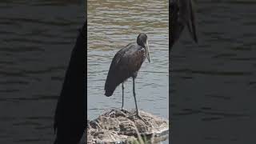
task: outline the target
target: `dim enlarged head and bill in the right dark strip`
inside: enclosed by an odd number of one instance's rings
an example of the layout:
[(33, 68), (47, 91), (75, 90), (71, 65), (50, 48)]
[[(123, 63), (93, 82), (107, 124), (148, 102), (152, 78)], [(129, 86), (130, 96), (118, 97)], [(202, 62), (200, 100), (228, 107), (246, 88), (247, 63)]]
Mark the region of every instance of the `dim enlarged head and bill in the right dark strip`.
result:
[(198, 43), (191, 0), (173, 0), (170, 2), (170, 50), (180, 38), (185, 26), (187, 26), (194, 42)]

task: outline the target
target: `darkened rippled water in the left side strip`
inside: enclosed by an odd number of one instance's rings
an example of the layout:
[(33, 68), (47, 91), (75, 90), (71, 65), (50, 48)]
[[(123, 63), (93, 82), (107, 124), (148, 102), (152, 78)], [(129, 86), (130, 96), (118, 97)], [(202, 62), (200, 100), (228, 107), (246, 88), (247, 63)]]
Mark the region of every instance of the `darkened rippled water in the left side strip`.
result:
[(53, 117), (84, 2), (0, 2), (0, 143), (54, 142)]

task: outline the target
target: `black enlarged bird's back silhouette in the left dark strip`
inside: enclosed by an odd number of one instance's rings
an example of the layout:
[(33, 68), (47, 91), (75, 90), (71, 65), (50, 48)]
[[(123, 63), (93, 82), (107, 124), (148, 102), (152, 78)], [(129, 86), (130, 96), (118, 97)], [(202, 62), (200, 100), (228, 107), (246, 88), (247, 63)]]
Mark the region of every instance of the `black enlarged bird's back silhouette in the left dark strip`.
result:
[(86, 23), (80, 30), (70, 63), (66, 70), (62, 92), (54, 114), (54, 144), (78, 144), (86, 130), (86, 98), (84, 56), (86, 54)]

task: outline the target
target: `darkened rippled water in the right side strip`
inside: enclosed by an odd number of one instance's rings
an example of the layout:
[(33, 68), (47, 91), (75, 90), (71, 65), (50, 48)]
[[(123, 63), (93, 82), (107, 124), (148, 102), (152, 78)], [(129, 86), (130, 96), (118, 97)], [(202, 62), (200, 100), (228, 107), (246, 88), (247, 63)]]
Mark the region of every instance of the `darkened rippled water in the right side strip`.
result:
[(255, 142), (255, 6), (197, 1), (199, 44), (183, 33), (170, 57), (171, 142)]

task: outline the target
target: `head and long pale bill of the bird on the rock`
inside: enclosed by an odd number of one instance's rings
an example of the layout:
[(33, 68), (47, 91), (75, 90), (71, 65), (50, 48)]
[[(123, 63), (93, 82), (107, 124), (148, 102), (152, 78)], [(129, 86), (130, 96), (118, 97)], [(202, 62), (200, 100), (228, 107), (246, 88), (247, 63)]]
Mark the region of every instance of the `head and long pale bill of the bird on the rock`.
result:
[(139, 46), (142, 46), (146, 50), (146, 58), (150, 62), (150, 47), (149, 47), (149, 42), (147, 41), (147, 36), (144, 33), (138, 34), (137, 38), (137, 44)]

